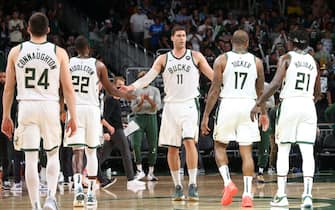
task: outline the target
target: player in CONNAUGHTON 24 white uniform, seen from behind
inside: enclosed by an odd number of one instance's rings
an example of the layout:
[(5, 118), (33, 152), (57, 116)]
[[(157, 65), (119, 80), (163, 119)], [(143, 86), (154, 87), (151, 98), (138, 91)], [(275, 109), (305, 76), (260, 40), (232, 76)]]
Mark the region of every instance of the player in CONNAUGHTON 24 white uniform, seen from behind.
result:
[(10, 108), (15, 84), (17, 85), (19, 113), (14, 144), (20, 145), (21, 150), (25, 151), (25, 180), (33, 209), (41, 209), (37, 171), (41, 138), (48, 156), (48, 198), (44, 203), (44, 209), (57, 209), (55, 194), (60, 168), (60, 88), (72, 116), (67, 125), (67, 133), (72, 136), (77, 129), (75, 95), (68, 55), (64, 49), (47, 42), (48, 25), (48, 18), (43, 13), (34, 13), (30, 17), (30, 41), (13, 47), (9, 53), (3, 95), (4, 113), (1, 129), (10, 138), (13, 132)]

